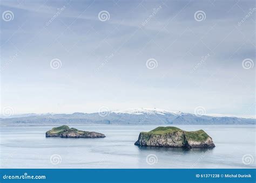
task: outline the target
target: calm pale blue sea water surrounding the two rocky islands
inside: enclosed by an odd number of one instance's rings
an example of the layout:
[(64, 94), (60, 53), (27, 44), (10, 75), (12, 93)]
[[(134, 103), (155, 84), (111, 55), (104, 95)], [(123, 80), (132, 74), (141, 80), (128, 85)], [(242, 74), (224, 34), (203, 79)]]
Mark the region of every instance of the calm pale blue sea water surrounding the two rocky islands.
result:
[(45, 138), (52, 127), (1, 127), (1, 168), (256, 168), (254, 125), (177, 126), (205, 130), (216, 145), (211, 150), (134, 145), (139, 132), (157, 125), (71, 126), (106, 138)]

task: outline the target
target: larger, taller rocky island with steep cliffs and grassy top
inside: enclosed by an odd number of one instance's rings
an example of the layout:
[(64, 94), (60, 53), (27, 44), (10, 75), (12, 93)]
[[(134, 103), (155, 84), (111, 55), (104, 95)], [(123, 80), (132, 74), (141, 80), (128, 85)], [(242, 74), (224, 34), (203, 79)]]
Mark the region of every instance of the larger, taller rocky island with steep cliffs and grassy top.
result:
[(173, 126), (158, 127), (140, 132), (134, 145), (152, 147), (215, 147), (212, 138), (204, 130), (184, 131)]

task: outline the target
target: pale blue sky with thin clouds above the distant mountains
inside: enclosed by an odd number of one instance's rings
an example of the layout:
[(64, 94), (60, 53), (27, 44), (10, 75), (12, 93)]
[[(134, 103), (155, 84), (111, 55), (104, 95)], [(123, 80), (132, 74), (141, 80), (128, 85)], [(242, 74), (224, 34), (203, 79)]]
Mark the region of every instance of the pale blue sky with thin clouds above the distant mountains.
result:
[(1, 1), (2, 114), (201, 107), (255, 115), (255, 7)]

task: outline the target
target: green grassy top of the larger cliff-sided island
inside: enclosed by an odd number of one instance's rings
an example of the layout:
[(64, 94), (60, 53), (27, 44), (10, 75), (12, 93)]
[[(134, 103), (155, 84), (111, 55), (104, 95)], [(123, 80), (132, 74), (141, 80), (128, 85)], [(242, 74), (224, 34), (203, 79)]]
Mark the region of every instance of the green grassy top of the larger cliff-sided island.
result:
[(197, 130), (197, 131), (184, 131), (174, 126), (159, 126), (158, 128), (151, 130), (149, 132), (142, 132), (142, 135), (165, 135), (167, 133), (173, 133), (173, 132), (183, 132), (186, 136), (186, 139), (196, 140), (196, 141), (202, 141), (206, 140), (207, 133), (204, 130)]

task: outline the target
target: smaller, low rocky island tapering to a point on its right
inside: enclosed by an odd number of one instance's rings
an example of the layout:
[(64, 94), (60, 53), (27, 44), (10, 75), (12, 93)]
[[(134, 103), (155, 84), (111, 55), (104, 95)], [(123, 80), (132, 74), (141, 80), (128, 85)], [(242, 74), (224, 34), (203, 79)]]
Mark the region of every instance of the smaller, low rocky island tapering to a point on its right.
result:
[(102, 133), (92, 131), (81, 131), (75, 128), (69, 128), (67, 125), (52, 128), (46, 131), (46, 137), (62, 137), (62, 138), (104, 138)]

